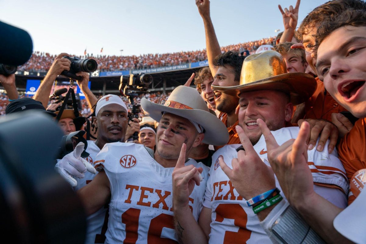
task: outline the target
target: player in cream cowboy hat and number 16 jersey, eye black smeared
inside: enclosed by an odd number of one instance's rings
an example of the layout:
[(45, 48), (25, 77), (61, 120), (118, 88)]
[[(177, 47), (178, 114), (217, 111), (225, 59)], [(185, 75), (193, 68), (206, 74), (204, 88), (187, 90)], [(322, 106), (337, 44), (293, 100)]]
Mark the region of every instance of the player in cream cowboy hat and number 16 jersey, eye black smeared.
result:
[[(78, 191), (88, 214), (100, 209), (110, 199), (105, 243), (177, 241), (172, 206), (172, 172), (177, 161), (180, 158), (180, 175), (199, 185), (188, 194), (187, 203), (197, 220), (208, 168), (187, 159), (186, 155), (202, 141), (224, 145), (228, 140), (225, 126), (209, 112), (194, 88), (177, 87), (164, 105), (143, 98), (141, 107), (159, 121), (155, 153), (141, 144), (105, 144), (93, 162), (100, 172)], [(102, 110), (99, 113), (104, 116)], [(117, 132), (115, 126), (105, 126), (105, 129)], [(201, 183), (199, 175), (203, 178)]]

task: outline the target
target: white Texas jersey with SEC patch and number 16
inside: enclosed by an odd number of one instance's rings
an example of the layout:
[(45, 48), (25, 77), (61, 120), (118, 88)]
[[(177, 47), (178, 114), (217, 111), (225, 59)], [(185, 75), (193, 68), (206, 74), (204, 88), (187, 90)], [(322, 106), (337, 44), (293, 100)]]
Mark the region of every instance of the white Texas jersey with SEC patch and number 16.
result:
[[(203, 180), (189, 198), (193, 216), (202, 209), (209, 168), (189, 159), (186, 165), (202, 167)], [(155, 161), (141, 144), (105, 144), (94, 167), (104, 169), (111, 186), (109, 222), (105, 243), (176, 243), (172, 208), (172, 172)]]

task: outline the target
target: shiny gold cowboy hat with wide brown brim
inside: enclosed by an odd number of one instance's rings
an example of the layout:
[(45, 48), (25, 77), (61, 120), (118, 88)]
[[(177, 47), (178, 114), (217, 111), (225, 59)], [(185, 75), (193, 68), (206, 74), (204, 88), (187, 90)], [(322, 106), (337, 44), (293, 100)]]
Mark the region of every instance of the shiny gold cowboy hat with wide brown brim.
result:
[(244, 59), (239, 85), (212, 85), (212, 88), (232, 96), (249, 91), (276, 90), (289, 94), (290, 102), (297, 105), (313, 95), (317, 82), (313, 76), (306, 73), (287, 73), (286, 63), (281, 54), (268, 50)]

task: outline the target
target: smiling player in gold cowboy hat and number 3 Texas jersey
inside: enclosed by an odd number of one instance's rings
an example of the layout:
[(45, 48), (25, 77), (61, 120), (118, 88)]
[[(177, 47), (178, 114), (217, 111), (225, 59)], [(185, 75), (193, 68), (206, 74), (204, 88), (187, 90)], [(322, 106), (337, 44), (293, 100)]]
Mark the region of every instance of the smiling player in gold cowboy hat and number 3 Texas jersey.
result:
[[(280, 188), (273, 174), (272, 177), (262, 174), (263, 168), (269, 172), (269, 165), (263, 163), (267, 160), (267, 149), (257, 119), (264, 121), (270, 130), (276, 130), (275, 137), (280, 144), (296, 138), (299, 127), (285, 127), (291, 119), (292, 106), (308, 99), (315, 87), (312, 76), (300, 72), (287, 73), (285, 61), (273, 50), (250, 55), (244, 60), (240, 85), (214, 87), (224, 94), (240, 94), (239, 126), (236, 129), (243, 135), (241, 142), (245, 151), (240, 144), (226, 145), (213, 155), (198, 224), (185, 205), (187, 196), (183, 201), (184, 194), (178, 194), (187, 191), (187, 186), (178, 181), (175, 183), (179, 190), (173, 196), (174, 214), (180, 224), (177, 232), (182, 233), (183, 243), (235, 243), (238, 240), (243, 243), (272, 243), (259, 224), (265, 212), (257, 217), (247, 202), (262, 192)], [(309, 155), (313, 164), (308, 168), (314, 169), (313, 187), (340, 207), (345, 207), (343, 191), (348, 190), (348, 184), (336, 172), (343, 169), (336, 153), (320, 153), (313, 149)], [(228, 164), (226, 168), (222, 166), (225, 170), (220, 167), (223, 161)], [(241, 170), (240, 167), (245, 168)], [(317, 167), (324, 167), (332, 174), (322, 174), (316, 171)], [(228, 173), (231, 168), (235, 172), (234, 178)], [(271, 188), (267, 189), (269, 185)], [(332, 188), (335, 185), (336, 190)], [(245, 191), (241, 191), (240, 186), (245, 187)]]

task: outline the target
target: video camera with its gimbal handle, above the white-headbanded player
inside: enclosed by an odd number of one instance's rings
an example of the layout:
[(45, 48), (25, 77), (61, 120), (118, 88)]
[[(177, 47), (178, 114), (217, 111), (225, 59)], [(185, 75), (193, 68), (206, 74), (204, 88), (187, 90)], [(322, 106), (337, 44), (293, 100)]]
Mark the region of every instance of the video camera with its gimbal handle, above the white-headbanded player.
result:
[[(139, 73), (137, 75), (131, 74), (130, 76), (121, 76), (119, 91), (122, 96), (128, 98), (130, 104), (132, 105), (132, 111), (128, 114), (128, 118), (130, 120), (132, 120), (132, 118), (138, 118), (139, 113), (141, 112), (141, 105), (136, 105), (134, 101), (134, 98), (137, 98), (138, 94), (132, 91), (146, 92), (147, 89), (149, 89), (149, 85), (151, 83), (153, 83), (153, 77), (144, 73)], [(138, 140), (137, 132), (133, 134), (132, 140)]]

